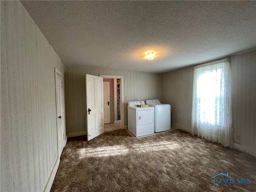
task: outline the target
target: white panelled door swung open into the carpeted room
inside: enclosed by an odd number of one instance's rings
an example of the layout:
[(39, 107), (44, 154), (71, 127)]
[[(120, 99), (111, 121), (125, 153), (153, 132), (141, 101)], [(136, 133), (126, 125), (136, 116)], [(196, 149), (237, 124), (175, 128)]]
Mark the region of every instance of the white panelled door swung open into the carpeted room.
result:
[(86, 74), (87, 140), (104, 133), (103, 78)]

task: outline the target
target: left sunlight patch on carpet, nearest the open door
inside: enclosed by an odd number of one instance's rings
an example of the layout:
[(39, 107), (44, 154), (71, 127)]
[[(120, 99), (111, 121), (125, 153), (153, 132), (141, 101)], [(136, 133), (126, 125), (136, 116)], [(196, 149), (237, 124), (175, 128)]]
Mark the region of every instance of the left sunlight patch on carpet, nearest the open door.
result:
[(124, 145), (84, 148), (80, 150), (80, 158), (87, 157), (106, 157), (115, 155), (124, 155), (128, 153), (128, 149)]

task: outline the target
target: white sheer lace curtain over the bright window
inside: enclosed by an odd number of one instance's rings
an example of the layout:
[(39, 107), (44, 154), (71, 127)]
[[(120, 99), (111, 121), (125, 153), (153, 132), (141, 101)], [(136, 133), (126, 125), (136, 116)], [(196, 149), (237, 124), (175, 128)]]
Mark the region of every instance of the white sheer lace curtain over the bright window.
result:
[(192, 135), (233, 145), (229, 60), (194, 67)]

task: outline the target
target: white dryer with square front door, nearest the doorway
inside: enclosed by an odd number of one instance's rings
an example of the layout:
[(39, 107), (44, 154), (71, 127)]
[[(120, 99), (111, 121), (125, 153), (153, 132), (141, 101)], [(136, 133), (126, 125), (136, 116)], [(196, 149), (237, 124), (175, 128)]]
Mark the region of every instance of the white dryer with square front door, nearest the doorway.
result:
[(138, 105), (145, 105), (145, 102), (128, 102), (128, 131), (136, 137), (154, 134), (154, 107)]

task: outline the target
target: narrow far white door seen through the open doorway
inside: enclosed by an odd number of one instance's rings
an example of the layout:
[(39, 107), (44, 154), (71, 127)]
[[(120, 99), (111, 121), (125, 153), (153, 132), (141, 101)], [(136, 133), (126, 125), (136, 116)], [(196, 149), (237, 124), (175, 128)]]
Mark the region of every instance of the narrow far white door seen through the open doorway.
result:
[(104, 124), (110, 123), (110, 83), (103, 82)]

